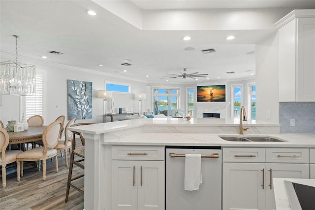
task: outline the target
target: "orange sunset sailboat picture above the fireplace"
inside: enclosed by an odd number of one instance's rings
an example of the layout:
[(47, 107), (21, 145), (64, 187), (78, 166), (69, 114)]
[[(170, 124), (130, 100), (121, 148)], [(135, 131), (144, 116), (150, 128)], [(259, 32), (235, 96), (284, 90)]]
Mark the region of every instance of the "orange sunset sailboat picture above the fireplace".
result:
[(197, 102), (225, 102), (225, 85), (197, 86)]

